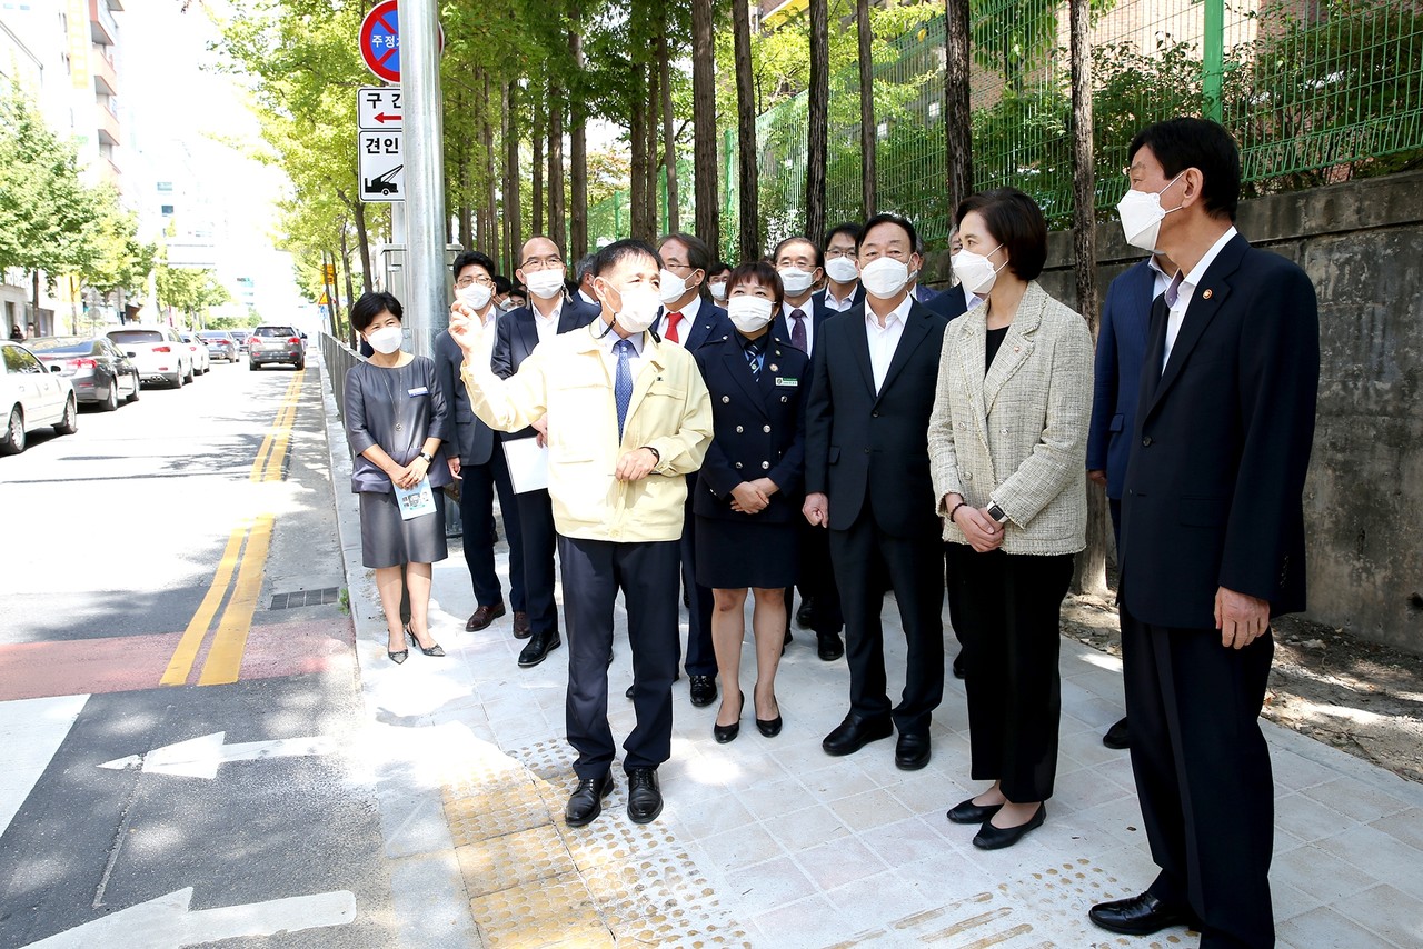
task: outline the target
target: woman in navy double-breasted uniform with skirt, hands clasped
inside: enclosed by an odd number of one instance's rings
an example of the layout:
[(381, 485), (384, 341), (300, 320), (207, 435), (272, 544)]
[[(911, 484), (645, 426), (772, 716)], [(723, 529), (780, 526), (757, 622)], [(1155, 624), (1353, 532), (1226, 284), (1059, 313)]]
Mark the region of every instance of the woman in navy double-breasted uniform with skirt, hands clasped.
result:
[(721, 744), (740, 733), (746, 706), (740, 667), (747, 589), (756, 592), (756, 727), (767, 737), (781, 731), (776, 667), (785, 639), (785, 588), (795, 582), (810, 391), (810, 357), (771, 334), (781, 296), (781, 279), (768, 263), (736, 267), (726, 300), (736, 333), (696, 351), (712, 393), (713, 437), (692, 511), (697, 583), (710, 586), (714, 598), (721, 707), (712, 734)]

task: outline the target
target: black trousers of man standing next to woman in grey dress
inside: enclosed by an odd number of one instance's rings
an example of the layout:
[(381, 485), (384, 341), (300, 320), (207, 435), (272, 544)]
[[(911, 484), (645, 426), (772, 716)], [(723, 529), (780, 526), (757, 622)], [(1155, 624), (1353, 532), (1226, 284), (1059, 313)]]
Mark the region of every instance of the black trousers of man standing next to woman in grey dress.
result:
[(464, 562), (470, 568), (474, 599), (480, 606), (494, 606), (504, 599), (499, 575), (494, 569), (494, 492), (499, 492), (504, 536), (509, 542), (509, 606), (524, 610), (524, 542), (519, 508), (509, 465), (498, 441), (482, 465), (460, 468), (460, 521), (464, 525)]

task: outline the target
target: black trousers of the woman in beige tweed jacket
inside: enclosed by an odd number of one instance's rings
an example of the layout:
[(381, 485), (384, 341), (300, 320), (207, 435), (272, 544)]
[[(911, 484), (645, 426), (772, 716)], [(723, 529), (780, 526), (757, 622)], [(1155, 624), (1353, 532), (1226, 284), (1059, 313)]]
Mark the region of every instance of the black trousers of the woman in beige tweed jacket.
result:
[(963, 623), (963, 677), (975, 781), (1009, 801), (1046, 801), (1057, 777), (1059, 620), (1073, 555), (1033, 556), (949, 544), (949, 602)]

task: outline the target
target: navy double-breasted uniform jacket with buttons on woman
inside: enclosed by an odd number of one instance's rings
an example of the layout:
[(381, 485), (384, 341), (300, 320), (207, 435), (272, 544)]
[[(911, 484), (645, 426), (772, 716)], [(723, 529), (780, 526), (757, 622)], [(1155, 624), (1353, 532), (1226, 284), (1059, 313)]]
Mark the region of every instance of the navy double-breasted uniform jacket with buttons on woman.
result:
[[(801, 516), (810, 357), (773, 334), (756, 378), (741, 339), (733, 333), (703, 344), (696, 359), (712, 393), (713, 434), (697, 475), (693, 512), (771, 522)], [(733, 511), (731, 489), (757, 478), (770, 478), (780, 488), (770, 505), (758, 514)]]

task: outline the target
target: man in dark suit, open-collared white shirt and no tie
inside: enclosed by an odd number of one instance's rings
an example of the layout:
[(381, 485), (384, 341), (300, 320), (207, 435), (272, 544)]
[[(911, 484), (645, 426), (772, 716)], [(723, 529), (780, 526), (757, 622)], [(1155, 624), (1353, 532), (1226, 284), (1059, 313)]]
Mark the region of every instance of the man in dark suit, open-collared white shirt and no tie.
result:
[[(948, 320), (909, 296), (919, 267), (914, 225), (875, 215), (859, 239), (864, 307), (822, 327), (805, 425), (807, 521), (830, 528), (845, 610), (850, 714), (828, 754), (899, 741), (895, 764), (929, 763), (929, 719), (943, 697), (943, 542), (929, 478), (928, 428)], [(888, 578), (909, 650), (891, 709), (879, 613)]]

